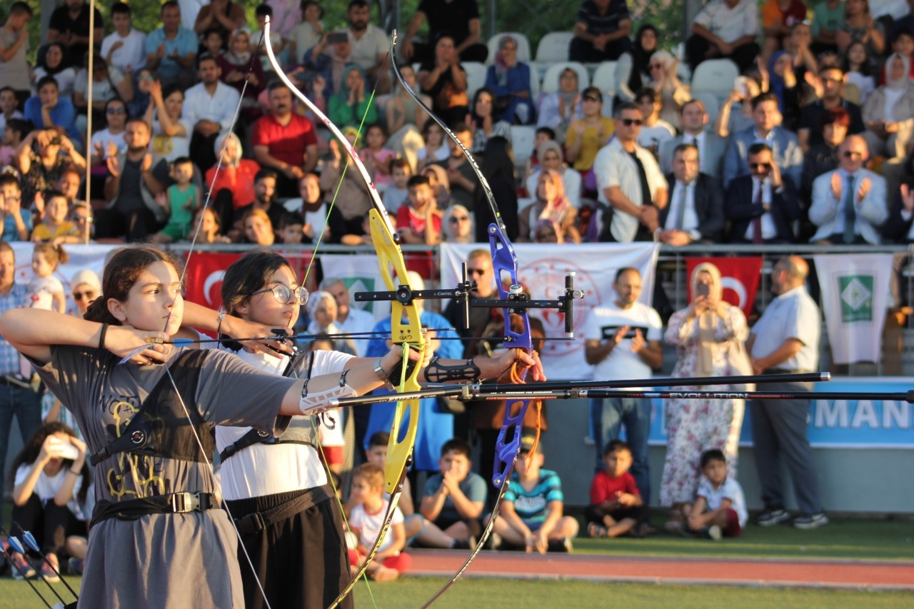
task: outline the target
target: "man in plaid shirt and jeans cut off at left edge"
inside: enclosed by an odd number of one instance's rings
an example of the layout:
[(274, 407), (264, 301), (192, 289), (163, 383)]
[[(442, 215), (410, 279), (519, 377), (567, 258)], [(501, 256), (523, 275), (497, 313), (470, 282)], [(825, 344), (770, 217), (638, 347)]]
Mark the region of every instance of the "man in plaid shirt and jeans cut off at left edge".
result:
[[(0, 240), (0, 313), (27, 306), (27, 294), (27, 286), (16, 283), (16, 254), (9, 243)], [(0, 492), (6, 487), (6, 450), (14, 414), (25, 443), (41, 424), (41, 404), (22, 375), (18, 351), (0, 337)]]

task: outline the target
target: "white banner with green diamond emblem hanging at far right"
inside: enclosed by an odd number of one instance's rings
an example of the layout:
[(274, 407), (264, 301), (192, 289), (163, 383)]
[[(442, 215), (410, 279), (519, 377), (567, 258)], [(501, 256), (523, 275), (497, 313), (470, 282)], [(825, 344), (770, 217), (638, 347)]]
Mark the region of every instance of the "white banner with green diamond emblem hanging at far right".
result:
[(892, 254), (813, 256), (835, 364), (879, 361)]

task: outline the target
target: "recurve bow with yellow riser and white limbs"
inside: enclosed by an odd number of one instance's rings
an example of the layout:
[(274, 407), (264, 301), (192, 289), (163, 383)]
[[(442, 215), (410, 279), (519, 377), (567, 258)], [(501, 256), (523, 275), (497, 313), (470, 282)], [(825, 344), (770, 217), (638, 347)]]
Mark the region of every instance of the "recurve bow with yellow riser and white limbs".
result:
[[(276, 74), (280, 77), (280, 80), (289, 87), (292, 94), (307, 106), (311, 112), (314, 112), (314, 116), (324, 123), (324, 126), (330, 130), (330, 133), (334, 134), (339, 144), (345, 149), (346, 154), (349, 155), (349, 163), (356, 167), (359, 175), (362, 176), (362, 179), (367, 185), (368, 196), (371, 198), (373, 205), (373, 208), (368, 212), (372, 242), (377, 251), (378, 264), (380, 265), (381, 276), (383, 277), (384, 282), (391, 291), (396, 290), (398, 285), (409, 285), (406, 262), (403, 259), (403, 252), (400, 251), (399, 248), (399, 239), (395, 236), (393, 225), (388, 216), (388, 210), (384, 207), (380, 195), (377, 193), (377, 188), (375, 187), (371, 175), (368, 173), (367, 167), (362, 163), (362, 159), (359, 158), (356, 149), (352, 144), (349, 144), (345, 135), (342, 134), (336, 125), (327, 118), (324, 112), (321, 112), (321, 109), (318, 108), (314, 102), (309, 100), (302, 91), (299, 91), (292, 83), (292, 80), (289, 80), (289, 77), (286, 76), (273, 54), (270, 31), (271, 20), (270, 17), (267, 17), (263, 28), (264, 44), (267, 49), (267, 57), (270, 59), (270, 63), (273, 66), (273, 69), (275, 69)], [(399, 284), (394, 280), (395, 275)], [(406, 323), (403, 322), (404, 316), (407, 318)], [(425, 338), (422, 336), (419, 310), (411, 300), (406, 304), (399, 302), (391, 304), (391, 334), (395, 344), (404, 346), (404, 360), (407, 358), (407, 349), (409, 346), (417, 347), (419, 349), (425, 348)], [(407, 369), (405, 361), (403, 369)], [(419, 374), (419, 366), (415, 366), (409, 376), (404, 374), (404, 378), (400, 379), (400, 384), (397, 388), (398, 392), (419, 390)], [(409, 416), (409, 424), (406, 432), (402, 433), (401, 427), (404, 417), (406, 416)], [(384, 540), (384, 537), (390, 528), (390, 522), (393, 519), (394, 511), (399, 502), (400, 490), (403, 487), (403, 480), (406, 477), (407, 466), (409, 465), (409, 455), (412, 452), (412, 446), (415, 442), (418, 429), (419, 400), (397, 402), (394, 423), (390, 431), (390, 443), (388, 444), (388, 461), (385, 467), (385, 484), (390, 493), (388, 513), (385, 516), (384, 525), (381, 527), (377, 540), (375, 540), (375, 545), (368, 552), (362, 566), (359, 568), (358, 572), (356, 572), (355, 577), (353, 577), (346, 585), (345, 589), (340, 592), (334, 603), (330, 605), (331, 609), (345, 599), (352, 591), (352, 588), (356, 585), (359, 578), (365, 574), (368, 565), (377, 554), (377, 550), (379, 550), (381, 542)], [(400, 439), (401, 435), (405, 436), (402, 440)]]

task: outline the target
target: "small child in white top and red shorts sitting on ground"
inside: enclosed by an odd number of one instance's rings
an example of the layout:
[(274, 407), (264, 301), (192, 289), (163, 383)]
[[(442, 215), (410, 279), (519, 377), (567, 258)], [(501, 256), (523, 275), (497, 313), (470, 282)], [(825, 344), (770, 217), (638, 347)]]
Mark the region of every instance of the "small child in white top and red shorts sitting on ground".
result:
[[(352, 500), (356, 506), (349, 515), (349, 527), (358, 538), (358, 548), (349, 550), (349, 563), (355, 569), (363, 561), (368, 549), (375, 545), (390, 501), (384, 498), (384, 470), (372, 463), (356, 467), (352, 475)], [(409, 554), (401, 554), (406, 545), (403, 514), (394, 508), (394, 518), (385, 533), (375, 560), (368, 566), (368, 576), (376, 582), (396, 580), (412, 564)], [(354, 572), (355, 573), (355, 572)]]

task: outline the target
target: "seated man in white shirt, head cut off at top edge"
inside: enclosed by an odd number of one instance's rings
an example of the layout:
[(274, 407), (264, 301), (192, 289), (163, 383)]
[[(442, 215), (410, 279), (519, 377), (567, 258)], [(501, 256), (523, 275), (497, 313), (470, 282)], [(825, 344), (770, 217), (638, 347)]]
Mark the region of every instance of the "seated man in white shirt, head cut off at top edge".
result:
[(692, 22), (685, 55), (692, 73), (705, 59), (733, 59), (745, 72), (759, 55), (759, 8), (753, 0), (711, 0)]

